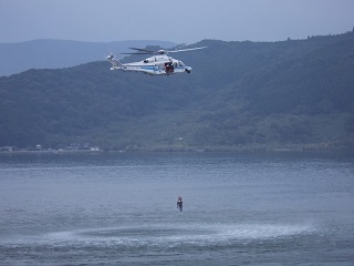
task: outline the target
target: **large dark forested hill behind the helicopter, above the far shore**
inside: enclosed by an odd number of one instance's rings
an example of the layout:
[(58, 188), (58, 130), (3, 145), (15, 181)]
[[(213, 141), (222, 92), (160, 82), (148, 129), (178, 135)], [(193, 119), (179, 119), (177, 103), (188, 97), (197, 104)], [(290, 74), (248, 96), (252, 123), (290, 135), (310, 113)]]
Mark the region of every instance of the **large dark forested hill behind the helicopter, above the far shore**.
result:
[(0, 146), (353, 147), (353, 32), (197, 45), (208, 49), (174, 54), (191, 74), (147, 76), (93, 62), (0, 78)]

